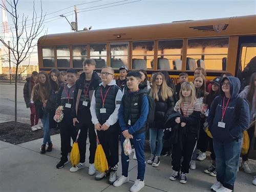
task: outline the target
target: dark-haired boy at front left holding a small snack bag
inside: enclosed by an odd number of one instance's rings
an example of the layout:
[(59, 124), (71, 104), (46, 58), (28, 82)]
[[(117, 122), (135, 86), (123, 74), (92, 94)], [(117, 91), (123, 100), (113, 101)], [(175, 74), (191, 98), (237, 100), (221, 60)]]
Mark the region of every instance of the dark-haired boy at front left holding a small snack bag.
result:
[[(75, 82), (78, 77), (76, 69), (68, 69), (66, 74), (67, 83), (59, 88), (58, 103), (63, 106), (63, 119), (59, 122), (60, 127), (60, 146), (61, 158), (56, 168), (62, 168), (68, 163), (68, 153), (70, 152), (70, 138), (75, 141), (76, 129), (73, 125), (73, 118), (71, 117), (71, 107), (74, 99)], [(61, 114), (61, 110), (56, 110), (56, 114)]]

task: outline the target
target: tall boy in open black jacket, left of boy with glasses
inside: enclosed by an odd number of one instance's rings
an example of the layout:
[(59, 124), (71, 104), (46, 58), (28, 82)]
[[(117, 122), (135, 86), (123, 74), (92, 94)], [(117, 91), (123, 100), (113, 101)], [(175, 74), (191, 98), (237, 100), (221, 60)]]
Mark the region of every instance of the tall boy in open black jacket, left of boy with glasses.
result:
[(88, 174), (94, 175), (96, 172), (94, 167), (94, 156), (97, 143), (90, 106), (91, 95), (101, 81), (98, 74), (94, 72), (96, 66), (95, 60), (86, 59), (83, 61), (82, 66), (84, 73), (81, 73), (79, 79), (76, 81), (74, 102), (72, 105), (73, 125), (81, 130), (77, 141), (80, 152), (80, 162), (77, 166), (71, 167), (70, 172), (76, 172), (77, 170), (86, 167), (86, 140), (87, 133), (89, 132), (90, 156)]

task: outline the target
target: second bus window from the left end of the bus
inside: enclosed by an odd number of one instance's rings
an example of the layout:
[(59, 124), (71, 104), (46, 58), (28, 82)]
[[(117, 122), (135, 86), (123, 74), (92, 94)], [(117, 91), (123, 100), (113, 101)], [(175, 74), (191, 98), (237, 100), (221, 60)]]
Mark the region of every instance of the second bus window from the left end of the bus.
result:
[(57, 67), (70, 68), (69, 46), (57, 46)]

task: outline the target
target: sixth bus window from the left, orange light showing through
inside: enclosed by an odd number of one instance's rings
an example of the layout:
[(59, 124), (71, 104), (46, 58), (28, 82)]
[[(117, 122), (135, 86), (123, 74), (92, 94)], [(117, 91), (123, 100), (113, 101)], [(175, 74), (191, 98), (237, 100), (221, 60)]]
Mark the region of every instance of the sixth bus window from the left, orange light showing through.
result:
[(154, 41), (133, 42), (133, 69), (153, 69)]

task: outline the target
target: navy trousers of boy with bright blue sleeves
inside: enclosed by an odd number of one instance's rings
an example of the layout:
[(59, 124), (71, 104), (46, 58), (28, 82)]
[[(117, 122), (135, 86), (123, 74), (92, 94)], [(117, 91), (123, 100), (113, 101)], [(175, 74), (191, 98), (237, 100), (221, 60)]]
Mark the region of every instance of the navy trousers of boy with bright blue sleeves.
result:
[[(121, 161), (122, 161), (122, 175), (124, 177), (128, 176), (128, 168), (129, 168), (129, 156), (124, 155), (123, 151), (123, 142), (125, 138), (123, 135), (120, 135), (121, 138)], [(134, 134), (133, 135), (133, 144), (135, 148), (135, 154), (137, 157), (137, 162), (138, 162), (138, 175), (137, 179), (143, 181), (144, 180), (144, 174), (145, 174), (145, 156), (144, 156), (144, 143), (145, 143), (145, 132), (140, 133), (140, 134)]]

